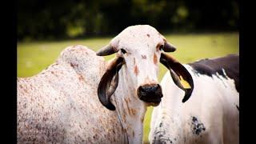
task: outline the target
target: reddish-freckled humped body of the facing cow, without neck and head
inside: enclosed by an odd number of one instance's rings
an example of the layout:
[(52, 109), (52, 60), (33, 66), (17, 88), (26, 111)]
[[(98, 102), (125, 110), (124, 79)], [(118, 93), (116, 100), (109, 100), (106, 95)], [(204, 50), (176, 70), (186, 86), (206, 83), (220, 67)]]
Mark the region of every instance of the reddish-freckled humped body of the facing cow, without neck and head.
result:
[(106, 63), (94, 55), (84, 46), (70, 47), (58, 65), (31, 78), (18, 78), (18, 143), (125, 142), (116, 112), (98, 101), (97, 83)]

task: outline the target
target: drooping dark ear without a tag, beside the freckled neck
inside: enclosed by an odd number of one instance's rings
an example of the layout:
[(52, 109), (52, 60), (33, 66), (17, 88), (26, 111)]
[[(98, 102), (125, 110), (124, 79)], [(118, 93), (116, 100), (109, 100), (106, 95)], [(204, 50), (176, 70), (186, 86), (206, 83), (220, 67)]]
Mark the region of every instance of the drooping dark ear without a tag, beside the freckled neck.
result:
[(109, 110), (115, 110), (115, 106), (110, 102), (110, 97), (118, 87), (118, 71), (121, 69), (123, 62), (122, 57), (115, 58), (110, 62), (98, 84), (98, 98), (102, 105)]

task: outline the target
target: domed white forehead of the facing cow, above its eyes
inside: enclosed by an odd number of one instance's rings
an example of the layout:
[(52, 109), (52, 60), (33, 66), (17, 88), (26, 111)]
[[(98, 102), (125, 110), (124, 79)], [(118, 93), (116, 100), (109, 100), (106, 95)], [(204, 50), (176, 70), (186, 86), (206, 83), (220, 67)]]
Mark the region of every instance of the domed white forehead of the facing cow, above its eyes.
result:
[(126, 49), (154, 49), (158, 43), (163, 43), (163, 37), (158, 30), (148, 25), (129, 26), (118, 34), (119, 46)]

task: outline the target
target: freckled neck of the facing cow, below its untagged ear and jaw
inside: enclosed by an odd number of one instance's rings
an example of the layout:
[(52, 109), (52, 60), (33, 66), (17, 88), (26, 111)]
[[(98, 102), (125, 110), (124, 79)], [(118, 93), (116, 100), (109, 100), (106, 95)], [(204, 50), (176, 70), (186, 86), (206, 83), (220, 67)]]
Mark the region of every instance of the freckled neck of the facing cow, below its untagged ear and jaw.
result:
[(113, 100), (128, 142), (137, 144), (142, 143), (146, 105), (138, 98), (136, 87), (130, 82), (131, 78), (126, 71), (126, 67), (122, 66)]

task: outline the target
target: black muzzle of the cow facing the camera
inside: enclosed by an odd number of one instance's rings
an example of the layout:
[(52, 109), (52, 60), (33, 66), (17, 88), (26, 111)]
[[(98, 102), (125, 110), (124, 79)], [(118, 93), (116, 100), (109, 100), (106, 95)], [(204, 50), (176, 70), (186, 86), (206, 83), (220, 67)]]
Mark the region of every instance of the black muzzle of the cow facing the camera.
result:
[(138, 98), (144, 102), (158, 104), (162, 98), (162, 88), (158, 84), (146, 84), (139, 86), (137, 90)]

